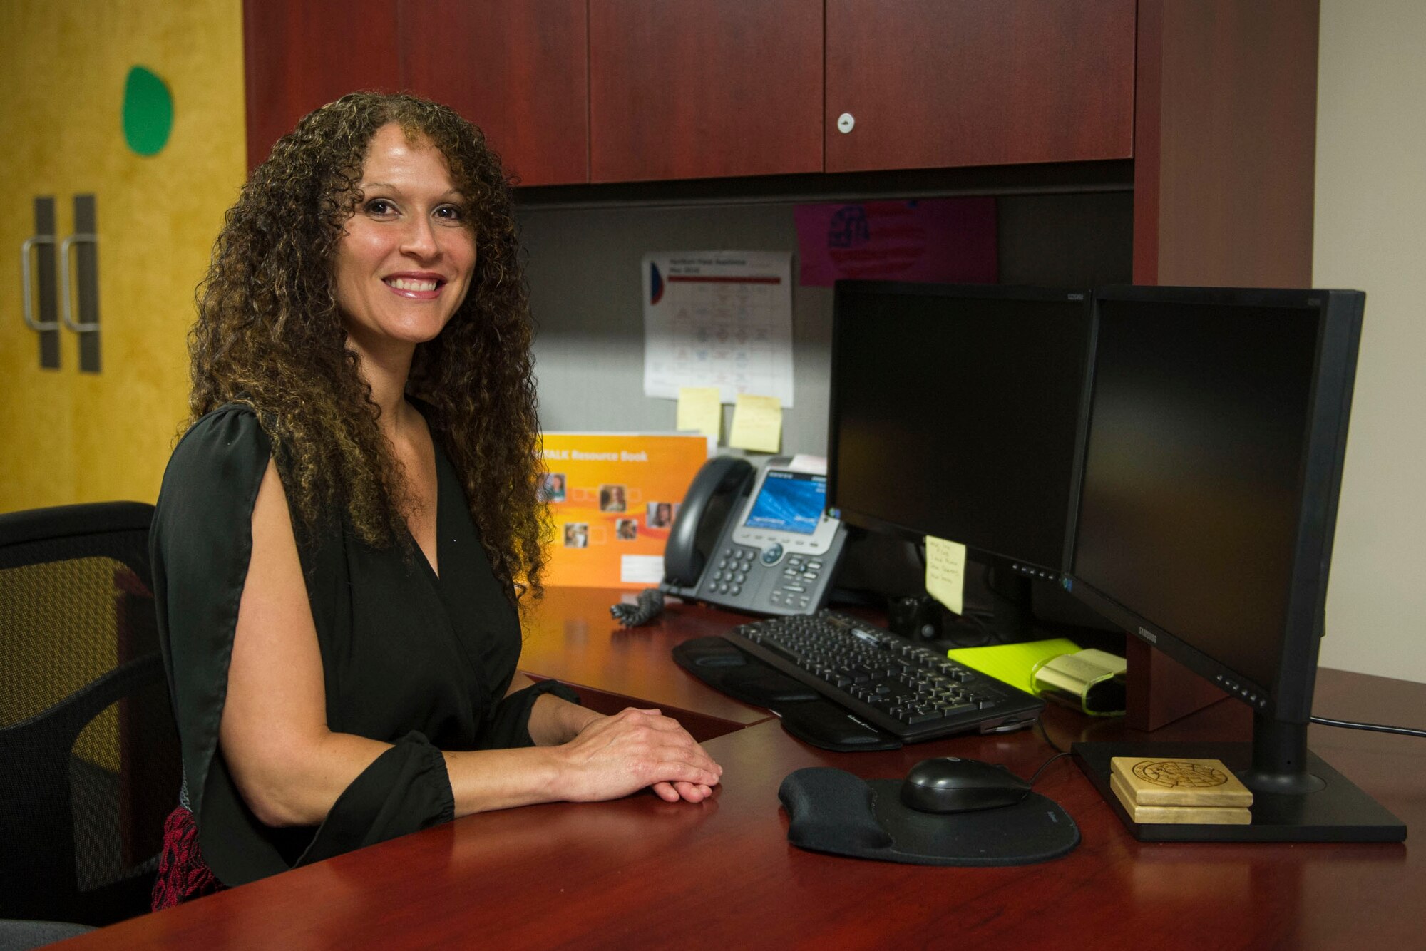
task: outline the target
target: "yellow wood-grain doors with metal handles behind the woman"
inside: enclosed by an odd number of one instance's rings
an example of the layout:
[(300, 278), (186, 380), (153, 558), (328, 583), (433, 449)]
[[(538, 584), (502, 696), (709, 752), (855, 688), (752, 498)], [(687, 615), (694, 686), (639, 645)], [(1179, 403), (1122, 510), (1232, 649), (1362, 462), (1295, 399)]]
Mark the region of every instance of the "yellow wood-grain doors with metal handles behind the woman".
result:
[[(130, 67), (174, 100), (168, 144), (124, 141)], [(185, 415), (185, 335), (194, 288), (242, 183), (241, 0), (6, 0), (0, 3), (0, 512), (158, 495)], [(73, 195), (97, 195), (103, 372), (41, 371), (20, 319), (14, 265), (34, 195), (54, 195), (58, 234)]]

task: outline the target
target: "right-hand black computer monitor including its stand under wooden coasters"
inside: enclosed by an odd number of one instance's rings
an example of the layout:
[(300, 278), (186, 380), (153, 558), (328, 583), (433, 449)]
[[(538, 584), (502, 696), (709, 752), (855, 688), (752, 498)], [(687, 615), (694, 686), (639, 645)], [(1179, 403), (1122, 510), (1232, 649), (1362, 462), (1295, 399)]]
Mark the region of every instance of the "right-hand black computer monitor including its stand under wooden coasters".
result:
[[(1107, 288), (1084, 405), (1064, 585), (1252, 707), (1202, 757), (1075, 746), (1142, 838), (1399, 840), (1405, 827), (1308, 753), (1365, 295)], [(1112, 756), (1219, 759), (1251, 826), (1134, 824)]]

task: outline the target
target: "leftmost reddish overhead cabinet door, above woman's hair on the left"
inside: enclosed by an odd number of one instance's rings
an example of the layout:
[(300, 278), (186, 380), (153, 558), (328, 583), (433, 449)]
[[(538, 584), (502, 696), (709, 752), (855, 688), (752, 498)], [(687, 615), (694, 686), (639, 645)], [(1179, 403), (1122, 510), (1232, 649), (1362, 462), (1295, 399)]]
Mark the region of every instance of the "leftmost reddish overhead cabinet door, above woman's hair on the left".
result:
[(396, 91), (396, 0), (244, 0), (248, 168), (318, 106)]

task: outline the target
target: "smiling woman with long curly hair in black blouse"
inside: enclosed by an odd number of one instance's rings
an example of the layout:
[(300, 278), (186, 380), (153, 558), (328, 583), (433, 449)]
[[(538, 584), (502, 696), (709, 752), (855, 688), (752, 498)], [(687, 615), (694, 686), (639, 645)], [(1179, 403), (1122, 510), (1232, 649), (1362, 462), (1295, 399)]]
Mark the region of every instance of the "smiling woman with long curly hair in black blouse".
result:
[(409, 96), (309, 114), (228, 212), (153, 526), (184, 761), (155, 907), (468, 813), (717, 784), (657, 710), (515, 672), (548, 532), (518, 251), (479, 130)]

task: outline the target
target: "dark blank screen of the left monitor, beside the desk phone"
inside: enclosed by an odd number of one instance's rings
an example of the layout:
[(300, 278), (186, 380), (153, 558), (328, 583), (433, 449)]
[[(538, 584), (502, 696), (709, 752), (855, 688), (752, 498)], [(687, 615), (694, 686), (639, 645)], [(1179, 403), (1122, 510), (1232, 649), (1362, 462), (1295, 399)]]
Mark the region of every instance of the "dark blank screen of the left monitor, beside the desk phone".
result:
[(1060, 570), (1088, 294), (837, 284), (829, 506)]

